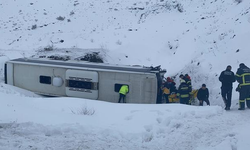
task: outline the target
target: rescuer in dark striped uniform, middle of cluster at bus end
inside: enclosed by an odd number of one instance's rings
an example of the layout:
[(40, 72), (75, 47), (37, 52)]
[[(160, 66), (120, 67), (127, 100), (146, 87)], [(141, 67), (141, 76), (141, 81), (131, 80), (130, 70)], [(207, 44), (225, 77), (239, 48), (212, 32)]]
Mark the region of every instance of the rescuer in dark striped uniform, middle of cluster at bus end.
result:
[(180, 98), (180, 103), (181, 104), (189, 104), (190, 100), (190, 92), (191, 89), (189, 88), (188, 84), (186, 83), (185, 80), (181, 79), (181, 84), (178, 88), (178, 93), (177, 96)]

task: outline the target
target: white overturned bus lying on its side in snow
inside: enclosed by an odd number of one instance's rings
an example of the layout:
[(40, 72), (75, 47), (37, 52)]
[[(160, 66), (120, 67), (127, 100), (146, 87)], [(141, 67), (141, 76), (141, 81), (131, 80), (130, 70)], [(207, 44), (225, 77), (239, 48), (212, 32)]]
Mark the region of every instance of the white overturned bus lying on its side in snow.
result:
[(157, 103), (165, 70), (79, 61), (19, 58), (5, 63), (5, 83), (37, 94), (118, 102), (128, 85), (127, 103)]

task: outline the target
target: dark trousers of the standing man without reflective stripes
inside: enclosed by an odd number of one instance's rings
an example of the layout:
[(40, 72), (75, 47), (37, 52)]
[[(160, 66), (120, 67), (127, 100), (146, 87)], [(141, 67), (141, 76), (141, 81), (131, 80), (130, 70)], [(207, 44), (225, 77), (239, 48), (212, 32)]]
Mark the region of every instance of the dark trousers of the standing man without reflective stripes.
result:
[(221, 95), (222, 95), (222, 99), (226, 105), (226, 108), (231, 107), (232, 90), (233, 90), (233, 87), (221, 87)]

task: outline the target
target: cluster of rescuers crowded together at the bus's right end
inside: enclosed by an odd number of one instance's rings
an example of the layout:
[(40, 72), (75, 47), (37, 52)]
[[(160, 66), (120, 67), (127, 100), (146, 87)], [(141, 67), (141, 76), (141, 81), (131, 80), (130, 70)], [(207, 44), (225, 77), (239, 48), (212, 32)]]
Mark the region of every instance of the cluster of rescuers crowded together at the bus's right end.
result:
[(167, 80), (163, 83), (163, 97), (166, 103), (180, 102), (181, 104), (190, 105), (192, 100), (197, 97), (200, 106), (203, 106), (204, 102), (210, 105), (208, 99), (209, 90), (205, 84), (202, 84), (199, 90), (192, 90), (190, 76), (181, 74), (179, 77), (180, 85), (178, 88), (176, 88), (176, 83), (170, 77), (167, 77)]

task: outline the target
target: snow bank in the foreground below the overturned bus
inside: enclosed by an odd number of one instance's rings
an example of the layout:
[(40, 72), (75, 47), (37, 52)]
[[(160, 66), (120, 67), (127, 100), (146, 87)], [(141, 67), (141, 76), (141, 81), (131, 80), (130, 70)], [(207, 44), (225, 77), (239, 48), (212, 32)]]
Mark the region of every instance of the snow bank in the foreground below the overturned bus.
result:
[[(249, 110), (236, 113), (218, 106), (122, 105), (8, 94), (1, 97), (1, 150), (249, 148)], [(72, 113), (85, 108), (94, 113)]]

